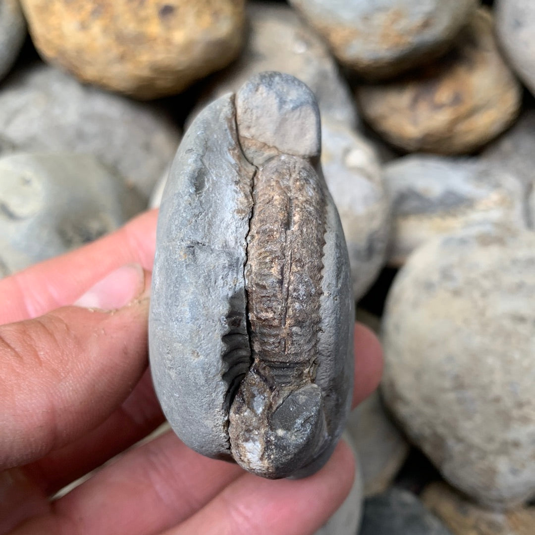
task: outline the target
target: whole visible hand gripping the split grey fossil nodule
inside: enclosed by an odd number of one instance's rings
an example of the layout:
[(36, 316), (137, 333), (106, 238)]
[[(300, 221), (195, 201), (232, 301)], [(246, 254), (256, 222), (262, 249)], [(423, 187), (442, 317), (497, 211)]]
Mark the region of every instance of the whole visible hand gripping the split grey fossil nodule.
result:
[[(0, 280), (0, 534), (314, 533), (352, 485), (343, 441), (324, 468), (267, 480), (187, 448), (147, 370), (156, 211)], [(381, 348), (355, 327), (353, 406), (379, 383)]]

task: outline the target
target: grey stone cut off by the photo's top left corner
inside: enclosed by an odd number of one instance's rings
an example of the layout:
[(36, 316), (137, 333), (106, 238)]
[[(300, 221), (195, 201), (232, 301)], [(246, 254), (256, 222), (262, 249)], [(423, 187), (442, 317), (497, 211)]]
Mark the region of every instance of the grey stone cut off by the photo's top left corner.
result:
[(26, 37), (19, 0), (0, 0), (0, 80), (10, 70)]

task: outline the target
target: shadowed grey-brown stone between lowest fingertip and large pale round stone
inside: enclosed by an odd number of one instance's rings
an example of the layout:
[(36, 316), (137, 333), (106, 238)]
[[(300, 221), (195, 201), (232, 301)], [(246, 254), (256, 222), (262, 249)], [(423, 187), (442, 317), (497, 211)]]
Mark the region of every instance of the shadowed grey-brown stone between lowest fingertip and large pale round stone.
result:
[(351, 412), (347, 431), (360, 459), (364, 494), (385, 491), (409, 454), (409, 444), (391, 421), (378, 391)]

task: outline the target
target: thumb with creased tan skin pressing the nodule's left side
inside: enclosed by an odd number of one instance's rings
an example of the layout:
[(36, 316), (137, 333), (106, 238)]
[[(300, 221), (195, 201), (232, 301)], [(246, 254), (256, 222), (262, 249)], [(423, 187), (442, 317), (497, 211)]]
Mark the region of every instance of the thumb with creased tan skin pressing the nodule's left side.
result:
[[(119, 284), (120, 268), (96, 285)], [(147, 365), (148, 279), (124, 277), (136, 299), (118, 310), (64, 307), (0, 326), (0, 467), (24, 464), (99, 425)], [(103, 285), (103, 286), (102, 286)], [(106, 293), (106, 292), (105, 292)]]

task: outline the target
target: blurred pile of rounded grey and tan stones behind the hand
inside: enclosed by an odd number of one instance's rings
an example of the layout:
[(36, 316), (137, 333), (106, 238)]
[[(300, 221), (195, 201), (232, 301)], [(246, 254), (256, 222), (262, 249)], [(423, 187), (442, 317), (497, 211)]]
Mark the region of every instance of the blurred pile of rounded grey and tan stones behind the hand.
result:
[(199, 110), (290, 73), (385, 350), (320, 533), (535, 534), (535, 3), (141, 4), (0, 0), (0, 277), (158, 205)]

